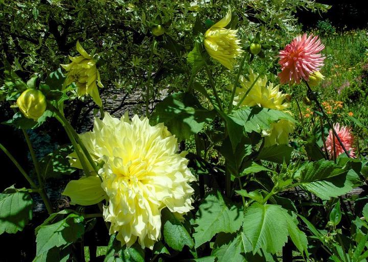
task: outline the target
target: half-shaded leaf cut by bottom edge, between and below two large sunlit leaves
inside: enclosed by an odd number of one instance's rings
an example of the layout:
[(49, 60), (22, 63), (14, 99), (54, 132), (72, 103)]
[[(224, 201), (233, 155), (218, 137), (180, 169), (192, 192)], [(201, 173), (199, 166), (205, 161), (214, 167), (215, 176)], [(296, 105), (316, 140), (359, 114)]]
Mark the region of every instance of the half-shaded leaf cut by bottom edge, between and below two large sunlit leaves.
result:
[(239, 234), (223, 234), (220, 233), (214, 244), (214, 249), (212, 251), (212, 256), (217, 257), (218, 262), (246, 262), (247, 260), (242, 255), (244, 253), (244, 246)]

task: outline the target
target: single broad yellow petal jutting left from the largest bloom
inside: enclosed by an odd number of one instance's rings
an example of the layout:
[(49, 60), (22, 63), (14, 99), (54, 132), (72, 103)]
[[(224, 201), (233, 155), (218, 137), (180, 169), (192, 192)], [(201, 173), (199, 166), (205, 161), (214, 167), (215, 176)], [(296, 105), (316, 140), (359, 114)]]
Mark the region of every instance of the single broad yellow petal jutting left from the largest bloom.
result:
[(94, 205), (106, 198), (101, 180), (95, 176), (70, 181), (62, 194), (70, 197), (73, 203), (82, 206)]

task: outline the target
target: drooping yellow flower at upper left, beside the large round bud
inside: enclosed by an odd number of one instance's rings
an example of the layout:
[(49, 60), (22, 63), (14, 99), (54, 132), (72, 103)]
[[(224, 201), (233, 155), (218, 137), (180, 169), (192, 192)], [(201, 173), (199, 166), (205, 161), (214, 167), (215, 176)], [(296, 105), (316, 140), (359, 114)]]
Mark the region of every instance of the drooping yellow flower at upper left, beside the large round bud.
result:
[(96, 67), (96, 61), (91, 57), (77, 41), (77, 51), (79, 56), (69, 56), (72, 61), (69, 64), (61, 64), (68, 71), (65, 85), (75, 82), (78, 96), (90, 95), (98, 106), (102, 105), (98, 87), (103, 88), (100, 73)]

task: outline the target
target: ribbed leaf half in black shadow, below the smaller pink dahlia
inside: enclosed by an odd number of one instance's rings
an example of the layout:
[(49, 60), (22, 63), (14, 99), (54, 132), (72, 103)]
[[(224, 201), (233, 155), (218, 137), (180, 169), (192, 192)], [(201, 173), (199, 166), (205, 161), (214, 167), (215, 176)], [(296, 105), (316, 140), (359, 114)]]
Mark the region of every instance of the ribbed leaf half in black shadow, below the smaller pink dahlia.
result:
[(298, 184), (321, 199), (335, 198), (359, 184), (358, 174), (348, 168), (326, 160), (311, 162), (300, 170)]

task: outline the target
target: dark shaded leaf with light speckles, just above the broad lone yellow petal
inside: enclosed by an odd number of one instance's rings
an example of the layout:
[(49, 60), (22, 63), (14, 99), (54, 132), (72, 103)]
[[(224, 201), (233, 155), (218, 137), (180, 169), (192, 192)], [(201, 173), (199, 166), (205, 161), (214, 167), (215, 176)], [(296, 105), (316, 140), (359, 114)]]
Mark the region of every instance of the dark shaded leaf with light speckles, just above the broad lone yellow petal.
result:
[(72, 145), (64, 145), (44, 156), (40, 163), (43, 179), (56, 178), (62, 174), (71, 174), (76, 168), (71, 167), (67, 156), (74, 151)]

